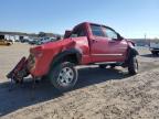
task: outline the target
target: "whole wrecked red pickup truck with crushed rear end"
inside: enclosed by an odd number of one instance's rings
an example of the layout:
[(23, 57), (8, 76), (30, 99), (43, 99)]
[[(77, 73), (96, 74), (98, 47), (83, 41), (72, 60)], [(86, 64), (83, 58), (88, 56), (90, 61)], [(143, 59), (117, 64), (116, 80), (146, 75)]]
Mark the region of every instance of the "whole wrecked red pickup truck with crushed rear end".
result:
[(123, 66), (135, 75), (138, 73), (137, 55), (135, 44), (112, 28), (84, 22), (66, 31), (63, 40), (30, 48), (29, 57), (22, 58), (8, 78), (18, 83), (29, 74), (33, 79), (47, 76), (55, 88), (67, 90), (77, 82), (75, 66)]

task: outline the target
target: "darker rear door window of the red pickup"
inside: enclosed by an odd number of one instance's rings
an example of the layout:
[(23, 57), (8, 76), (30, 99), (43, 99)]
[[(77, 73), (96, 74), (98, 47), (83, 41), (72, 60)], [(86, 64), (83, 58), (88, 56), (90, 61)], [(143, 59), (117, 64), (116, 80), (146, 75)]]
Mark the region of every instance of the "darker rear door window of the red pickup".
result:
[(105, 36), (100, 25), (91, 25), (92, 33), (95, 36)]

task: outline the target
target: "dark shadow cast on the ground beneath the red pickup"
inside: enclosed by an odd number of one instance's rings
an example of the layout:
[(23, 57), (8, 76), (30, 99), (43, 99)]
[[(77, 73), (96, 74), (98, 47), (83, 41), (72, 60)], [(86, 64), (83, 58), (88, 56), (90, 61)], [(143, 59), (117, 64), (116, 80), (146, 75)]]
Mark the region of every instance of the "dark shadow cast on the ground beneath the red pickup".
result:
[[(118, 69), (99, 69), (97, 67), (81, 68), (78, 73), (80, 78), (74, 90), (109, 79), (123, 79), (128, 76)], [(9, 91), (9, 82), (0, 84), (0, 117), (28, 106), (55, 99), (63, 95), (55, 90), (49, 80), (42, 80), (36, 84), (35, 89), (32, 88), (32, 82), (15, 85), (12, 91)]]

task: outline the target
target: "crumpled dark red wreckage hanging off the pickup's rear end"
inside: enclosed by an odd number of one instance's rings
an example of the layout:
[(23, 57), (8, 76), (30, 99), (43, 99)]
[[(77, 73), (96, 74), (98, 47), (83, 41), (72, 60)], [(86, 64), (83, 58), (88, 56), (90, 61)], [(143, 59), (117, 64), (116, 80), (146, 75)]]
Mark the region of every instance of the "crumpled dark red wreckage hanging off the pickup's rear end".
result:
[(22, 83), (23, 77), (29, 75), (26, 65), (28, 60), (22, 57), (15, 67), (7, 75), (7, 78), (14, 80), (15, 83)]

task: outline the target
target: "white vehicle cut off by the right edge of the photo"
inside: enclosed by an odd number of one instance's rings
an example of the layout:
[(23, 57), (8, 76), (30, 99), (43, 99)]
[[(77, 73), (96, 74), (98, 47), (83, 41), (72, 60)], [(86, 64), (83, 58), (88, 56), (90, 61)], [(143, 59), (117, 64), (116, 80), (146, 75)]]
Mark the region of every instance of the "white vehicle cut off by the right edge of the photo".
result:
[(150, 40), (149, 50), (153, 55), (159, 53), (159, 40)]

